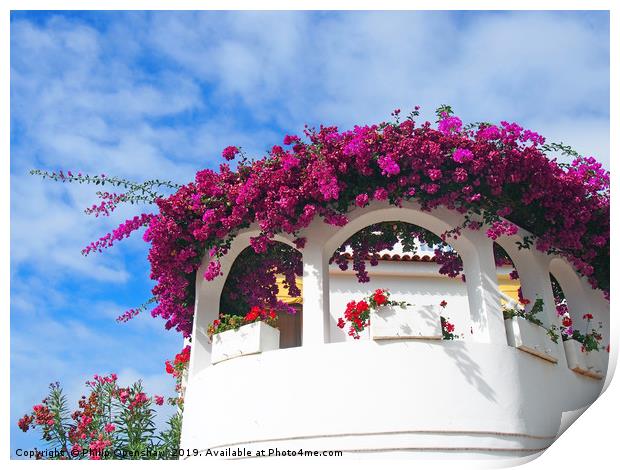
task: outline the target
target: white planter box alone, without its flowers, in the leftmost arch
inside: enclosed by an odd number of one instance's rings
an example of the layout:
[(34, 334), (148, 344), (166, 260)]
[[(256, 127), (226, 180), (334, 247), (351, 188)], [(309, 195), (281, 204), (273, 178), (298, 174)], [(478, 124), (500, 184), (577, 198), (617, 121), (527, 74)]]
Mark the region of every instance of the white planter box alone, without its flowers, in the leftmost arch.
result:
[(211, 364), (279, 348), (280, 330), (262, 321), (254, 322), (213, 335)]

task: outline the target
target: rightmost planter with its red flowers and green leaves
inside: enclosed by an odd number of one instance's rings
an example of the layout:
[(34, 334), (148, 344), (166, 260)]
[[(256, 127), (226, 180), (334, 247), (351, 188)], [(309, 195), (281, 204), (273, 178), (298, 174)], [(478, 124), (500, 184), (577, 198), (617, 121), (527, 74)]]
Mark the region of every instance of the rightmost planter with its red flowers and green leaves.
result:
[[(603, 378), (603, 358), (601, 356), (602, 335), (594, 328), (590, 329), (590, 321), (594, 318), (591, 313), (586, 313), (583, 319), (586, 320), (586, 333), (572, 327), (570, 317), (565, 317), (568, 321), (562, 322), (562, 339), (564, 341), (564, 351), (566, 362), (569, 369), (575, 372), (592, 377), (595, 379)], [(599, 328), (601, 327), (599, 322)]]

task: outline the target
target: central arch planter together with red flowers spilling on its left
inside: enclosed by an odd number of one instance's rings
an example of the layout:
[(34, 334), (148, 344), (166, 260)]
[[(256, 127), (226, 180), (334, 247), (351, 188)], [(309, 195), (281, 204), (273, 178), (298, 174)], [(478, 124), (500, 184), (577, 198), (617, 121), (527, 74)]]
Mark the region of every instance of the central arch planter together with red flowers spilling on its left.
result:
[(370, 338), (380, 339), (441, 339), (439, 312), (433, 306), (410, 308), (407, 302), (390, 300), (387, 289), (377, 289), (360, 301), (347, 304), (344, 318), (338, 326), (349, 324), (349, 336), (360, 338), (360, 333), (370, 327)]

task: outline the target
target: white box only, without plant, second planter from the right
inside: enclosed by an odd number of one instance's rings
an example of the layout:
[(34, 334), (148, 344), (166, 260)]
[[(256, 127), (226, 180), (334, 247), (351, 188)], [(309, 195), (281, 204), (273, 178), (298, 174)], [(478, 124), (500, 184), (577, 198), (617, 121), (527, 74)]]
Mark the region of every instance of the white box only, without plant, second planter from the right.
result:
[(558, 345), (551, 341), (547, 330), (525, 318), (504, 321), (508, 344), (549, 362), (558, 362)]

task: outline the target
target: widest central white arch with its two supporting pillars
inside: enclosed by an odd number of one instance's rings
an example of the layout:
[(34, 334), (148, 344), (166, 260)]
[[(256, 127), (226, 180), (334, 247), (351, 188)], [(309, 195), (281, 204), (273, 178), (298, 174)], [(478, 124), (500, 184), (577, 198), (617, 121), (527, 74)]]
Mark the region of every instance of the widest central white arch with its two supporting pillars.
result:
[[(413, 201), (404, 201), (400, 207), (373, 201), (367, 207), (352, 210), (347, 216), (349, 222), (343, 227), (334, 227), (315, 219), (303, 233), (308, 240), (303, 250), (304, 310), (320, 312), (319, 318), (311, 320), (307, 315), (304, 322), (304, 338), (308, 332), (307, 340), (312, 343), (330, 342), (329, 295), (323, 295), (323, 292), (329, 292), (328, 260), (353, 234), (368, 225), (386, 221), (407, 222), (441, 234), (464, 221), (464, 217), (456, 211), (445, 208), (423, 211)], [(451, 239), (450, 244), (463, 260), (473, 340), (506, 344), (491, 240), (479, 231), (464, 231), (458, 238)], [(307, 302), (313, 304), (306, 308)], [(310, 321), (316, 321), (311, 330), (306, 328)]]

